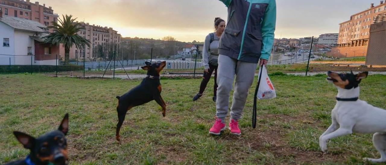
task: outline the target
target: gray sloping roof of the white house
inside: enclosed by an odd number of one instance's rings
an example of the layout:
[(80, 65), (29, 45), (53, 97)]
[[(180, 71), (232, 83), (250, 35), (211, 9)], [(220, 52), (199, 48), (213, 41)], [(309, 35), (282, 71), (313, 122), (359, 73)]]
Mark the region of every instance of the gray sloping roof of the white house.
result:
[(47, 31), (44, 30), (47, 28), (45, 25), (33, 20), (3, 15), (3, 17), (0, 18), (0, 22), (3, 22), (4, 24), (7, 24), (8, 26), (17, 30), (47, 33)]

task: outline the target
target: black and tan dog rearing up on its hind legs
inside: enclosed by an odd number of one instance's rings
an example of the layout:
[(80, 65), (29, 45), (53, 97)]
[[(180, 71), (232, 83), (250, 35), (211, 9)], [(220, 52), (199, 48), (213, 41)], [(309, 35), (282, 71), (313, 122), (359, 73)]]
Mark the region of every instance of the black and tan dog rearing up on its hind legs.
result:
[(146, 62), (146, 66), (143, 66), (142, 69), (147, 71), (147, 77), (143, 79), (142, 83), (124, 95), (117, 96), (118, 124), (115, 136), (118, 141), (120, 141), (119, 130), (125, 120), (127, 111), (131, 108), (155, 100), (162, 107), (162, 114), (165, 117), (166, 104), (161, 97), (162, 88), (159, 82), (159, 72), (161, 72), (165, 66), (165, 61), (154, 64)]

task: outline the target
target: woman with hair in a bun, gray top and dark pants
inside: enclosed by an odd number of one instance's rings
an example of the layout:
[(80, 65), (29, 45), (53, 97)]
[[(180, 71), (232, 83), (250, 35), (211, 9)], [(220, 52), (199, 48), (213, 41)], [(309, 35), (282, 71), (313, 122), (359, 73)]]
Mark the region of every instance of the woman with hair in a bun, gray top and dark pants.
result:
[(201, 81), (200, 91), (196, 96), (193, 97), (193, 101), (198, 100), (204, 93), (205, 88), (212, 76), (213, 71), (215, 72), (215, 85), (213, 87), (213, 101), (216, 102), (217, 99), (217, 59), (218, 59), (218, 41), (222, 33), (225, 30), (225, 21), (220, 18), (215, 19), (215, 29), (216, 31), (210, 33), (205, 38), (205, 44), (202, 53), (202, 64), (205, 67), (204, 76)]

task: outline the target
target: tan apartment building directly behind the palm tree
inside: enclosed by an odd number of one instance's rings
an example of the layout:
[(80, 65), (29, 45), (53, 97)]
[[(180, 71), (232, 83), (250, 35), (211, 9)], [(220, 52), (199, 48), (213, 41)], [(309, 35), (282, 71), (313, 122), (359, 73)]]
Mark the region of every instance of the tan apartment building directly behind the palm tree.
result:
[[(78, 35), (85, 37), (91, 42), (91, 47), (86, 46), (86, 60), (93, 61), (97, 59), (97, 54), (93, 51), (97, 45), (105, 46), (107, 43), (117, 44), (119, 50), (119, 43), (121, 41), (121, 35), (112, 27), (102, 27), (99, 25), (90, 25), (89, 23), (81, 22), (82, 29), (78, 32)], [(74, 45), (70, 49), (70, 59), (83, 59), (83, 49), (77, 49)], [(64, 56), (63, 56), (64, 58)]]

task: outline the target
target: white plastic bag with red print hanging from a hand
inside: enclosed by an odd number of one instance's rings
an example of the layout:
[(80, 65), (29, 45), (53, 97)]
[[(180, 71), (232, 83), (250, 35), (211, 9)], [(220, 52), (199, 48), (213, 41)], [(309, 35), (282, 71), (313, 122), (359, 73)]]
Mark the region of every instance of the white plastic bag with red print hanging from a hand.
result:
[[(259, 69), (259, 76), (261, 75), (260, 79), (260, 86), (257, 91), (257, 98), (258, 99), (273, 99), (276, 98), (276, 92), (275, 88), (273, 88), (273, 84), (271, 79), (269, 79), (267, 74), (267, 68), (265, 66), (260, 67)], [(257, 79), (257, 80), (259, 80)]]

